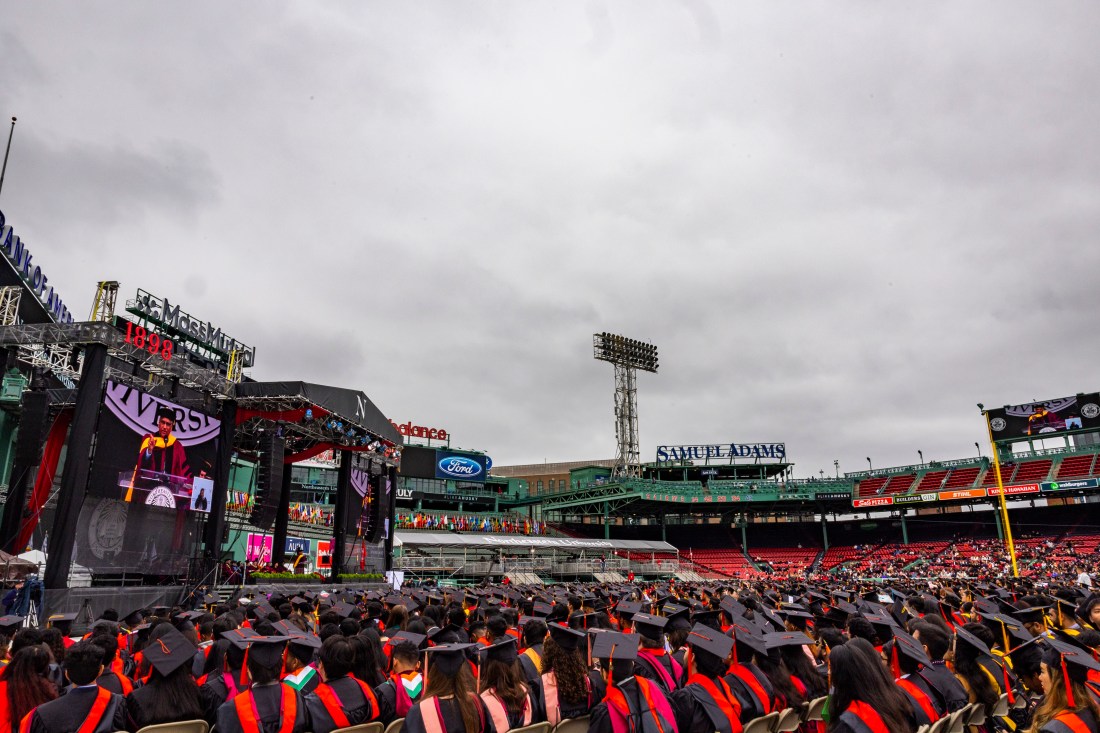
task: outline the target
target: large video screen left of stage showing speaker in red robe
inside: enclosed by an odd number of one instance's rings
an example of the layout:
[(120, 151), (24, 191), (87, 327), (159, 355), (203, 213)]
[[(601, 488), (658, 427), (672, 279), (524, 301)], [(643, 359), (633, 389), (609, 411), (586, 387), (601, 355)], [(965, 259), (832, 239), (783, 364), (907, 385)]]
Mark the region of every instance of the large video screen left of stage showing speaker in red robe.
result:
[(178, 575), (213, 505), (221, 422), (109, 381), (75, 559), (96, 572)]

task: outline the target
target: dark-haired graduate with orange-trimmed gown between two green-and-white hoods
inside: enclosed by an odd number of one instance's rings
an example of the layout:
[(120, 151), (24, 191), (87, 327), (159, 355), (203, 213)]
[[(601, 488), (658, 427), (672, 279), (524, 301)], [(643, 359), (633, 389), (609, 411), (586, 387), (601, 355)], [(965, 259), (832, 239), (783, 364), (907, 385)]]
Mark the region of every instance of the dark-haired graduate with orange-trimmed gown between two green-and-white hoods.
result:
[(312, 733), (370, 723), (383, 716), (371, 686), (352, 676), (355, 647), (346, 636), (330, 636), (321, 644), (317, 668), (324, 680), (306, 696)]

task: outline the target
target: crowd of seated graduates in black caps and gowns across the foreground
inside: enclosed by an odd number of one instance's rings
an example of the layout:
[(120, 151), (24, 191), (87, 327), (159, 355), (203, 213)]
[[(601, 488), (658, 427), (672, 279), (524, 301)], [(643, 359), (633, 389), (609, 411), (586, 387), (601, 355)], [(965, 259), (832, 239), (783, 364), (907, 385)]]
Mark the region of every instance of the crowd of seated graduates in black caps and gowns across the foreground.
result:
[[(0, 733), (1098, 733), (1100, 595), (1030, 580), (302, 593), (0, 619)], [(79, 632), (77, 635), (75, 632)], [(785, 711), (793, 712), (785, 712)], [(785, 730), (794, 730), (789, 727)]]

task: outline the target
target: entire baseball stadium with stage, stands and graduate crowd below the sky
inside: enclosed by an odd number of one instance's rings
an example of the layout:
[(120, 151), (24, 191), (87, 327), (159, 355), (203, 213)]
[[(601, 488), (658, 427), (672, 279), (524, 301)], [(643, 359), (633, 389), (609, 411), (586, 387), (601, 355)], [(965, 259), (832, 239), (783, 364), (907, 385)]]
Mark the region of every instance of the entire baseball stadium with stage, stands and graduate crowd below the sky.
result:
[(102, 281), (80, 320), (0, 227), (12, 727), (1094, 730), (1096, 392), (982, 407), (985, 456), (642, 460), (657, 347), (601, 332), (615, 458), (498, 466), (359, 385), (252, 380), (167, 297)]

